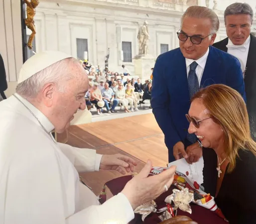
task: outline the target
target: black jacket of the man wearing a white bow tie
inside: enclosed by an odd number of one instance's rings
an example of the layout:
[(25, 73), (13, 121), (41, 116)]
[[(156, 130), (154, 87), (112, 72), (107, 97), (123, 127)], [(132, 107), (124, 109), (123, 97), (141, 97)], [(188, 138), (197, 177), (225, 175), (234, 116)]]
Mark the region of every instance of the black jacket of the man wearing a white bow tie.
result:
[[(213, 44), (213, 46), (227, 52), (227, 44), (228, 38)], [(256, 140), (256, 37), (252, 34), (246, 63), (245, 87), (251, 132)]]

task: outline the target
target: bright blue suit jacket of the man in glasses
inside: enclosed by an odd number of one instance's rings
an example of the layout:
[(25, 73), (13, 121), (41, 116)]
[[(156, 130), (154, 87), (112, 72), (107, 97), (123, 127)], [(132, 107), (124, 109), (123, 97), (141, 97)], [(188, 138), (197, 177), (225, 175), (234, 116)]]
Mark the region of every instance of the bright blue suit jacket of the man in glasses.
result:
[[(237, 90), (246, 101), (240, 62), (234, 56), (210, 46), (200, 88), (225, 84)], [(189, 123), (185, 117), (190, 108), (186, 61), (180, 48), (158, 56), (153, 70), (151, 107), (165, 136), (169, 162), (174, 160), (173, 146), (184, 143)]]

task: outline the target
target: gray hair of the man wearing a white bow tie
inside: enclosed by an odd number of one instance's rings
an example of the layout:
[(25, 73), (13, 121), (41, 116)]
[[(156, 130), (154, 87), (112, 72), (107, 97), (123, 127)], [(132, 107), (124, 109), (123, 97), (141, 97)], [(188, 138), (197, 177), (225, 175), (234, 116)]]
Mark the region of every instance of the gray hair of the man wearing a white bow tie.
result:
[(224, 20), (226, 24), (226, 16), (248, 14), (251, 16), (251, 22), (254, 21), (254, 10), (248, 3), (236, 2), (229, 5), (224, 12)]

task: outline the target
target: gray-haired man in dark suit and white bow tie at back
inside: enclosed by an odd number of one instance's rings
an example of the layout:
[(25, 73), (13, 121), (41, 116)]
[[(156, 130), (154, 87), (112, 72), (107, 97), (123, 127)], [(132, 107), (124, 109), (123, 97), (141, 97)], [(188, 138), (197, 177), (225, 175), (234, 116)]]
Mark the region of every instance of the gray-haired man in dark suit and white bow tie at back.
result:
[(227, 38), (214, 47), (237, 57), (244, 74), (247, 110), (252, 137), (256, 140), (256, 37), (251, 34), (254, 11), (247, 3), (233, 3), (224, 13)]

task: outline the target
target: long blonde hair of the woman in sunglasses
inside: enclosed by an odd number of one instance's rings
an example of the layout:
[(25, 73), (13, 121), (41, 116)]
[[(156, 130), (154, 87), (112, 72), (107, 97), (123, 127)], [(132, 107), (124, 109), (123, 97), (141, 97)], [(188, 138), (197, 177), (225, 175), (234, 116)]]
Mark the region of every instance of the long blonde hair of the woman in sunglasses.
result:
[(224, 131), (224, 150), (230, 162), (228, 173), (236, 167), (239, 150), (249, 150), (256, 156), (246, 104), (236, 90), (222, 84), (211, 85), (197, 92), (191, 101), (195, 99), (203, 101), (209, 115)]

